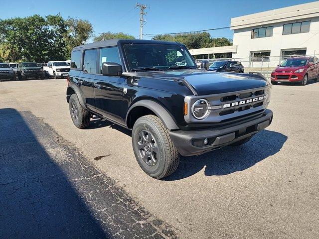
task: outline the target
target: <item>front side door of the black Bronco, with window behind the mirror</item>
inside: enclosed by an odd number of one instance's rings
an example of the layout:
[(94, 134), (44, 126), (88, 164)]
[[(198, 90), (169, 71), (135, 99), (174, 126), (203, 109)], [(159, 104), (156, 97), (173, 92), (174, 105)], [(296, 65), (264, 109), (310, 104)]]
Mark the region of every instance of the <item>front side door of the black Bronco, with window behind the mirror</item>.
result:
[(123, 84), (126, 78), (124, 76), (103, 76), (102, 63), (104, 62), (121, 64), (118, 47), (99, 49), (98, 74), (94, 80), (96, 111), (108, 119), (125, 124)]

